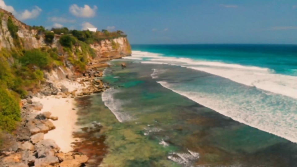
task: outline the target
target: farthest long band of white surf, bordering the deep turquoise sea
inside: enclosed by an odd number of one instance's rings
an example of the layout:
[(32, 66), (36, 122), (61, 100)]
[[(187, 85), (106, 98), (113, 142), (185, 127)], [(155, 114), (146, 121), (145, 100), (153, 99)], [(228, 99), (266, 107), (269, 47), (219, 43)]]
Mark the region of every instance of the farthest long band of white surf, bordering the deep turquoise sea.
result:
[[(198, 61), (190, 58), (162, 57), (161, 54), (141, 51), (136, 51), (135, 55), (152, 58), (148, 61), (141, 61), (141, 63), (179, 65), (297, 99), (297, 77), (273, 74), (274, 71), (268, 68), (243, 66), (223, 62)], [(134, 55), (132, 54), (132, 56)], [(154, 77), (157, 77), (157, 75)]]

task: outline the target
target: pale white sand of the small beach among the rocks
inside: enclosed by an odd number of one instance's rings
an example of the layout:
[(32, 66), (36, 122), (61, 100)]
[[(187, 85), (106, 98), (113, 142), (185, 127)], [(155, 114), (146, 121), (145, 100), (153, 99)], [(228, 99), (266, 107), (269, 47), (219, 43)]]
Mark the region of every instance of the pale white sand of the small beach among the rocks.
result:
[[(78, 90), (77, 92), (80, 92), (82, 88), (85, 88), (85, 86), (82, 86), (80, 83), (67, 80), (56, 83), (56, 86), (59, 85), (61, 88), (61, 84), (65, 85), (69, 92), (75, 89)], [(34, 97), (32, 101), (39, 101), (43, 104), (39, 113), (49, 111), (52, 113), (51, 116), (58, 117), (57, 121), (51, 120), (56, 126), (56, 129), (45, 134), (44, 139), (53, 139), (61, 148), (62, 152), (70, 152), (73, 150), (71, 143), (75, 141), (72, 132), (79, 129), (79, 127), (75, 125), (78, 118), (76, 110), (72, 110), (73, 108), (75, 109), (75, 101), (73, 98), (57, 99), (55, 97), (56, 96), (43, 96), (42, 99)]]

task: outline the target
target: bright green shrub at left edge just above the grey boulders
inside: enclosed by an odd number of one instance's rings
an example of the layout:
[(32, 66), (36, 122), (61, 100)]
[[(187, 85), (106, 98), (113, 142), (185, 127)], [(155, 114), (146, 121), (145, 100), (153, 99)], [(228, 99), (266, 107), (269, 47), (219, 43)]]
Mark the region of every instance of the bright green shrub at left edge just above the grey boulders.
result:
[(18, 100), (2, 84), (0, 87), (0, 128), (4, 131), (12, 131), (17, 121), (20, 121)]

